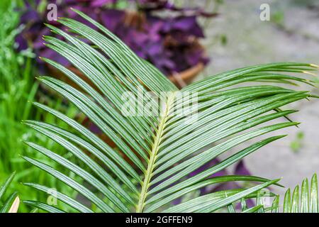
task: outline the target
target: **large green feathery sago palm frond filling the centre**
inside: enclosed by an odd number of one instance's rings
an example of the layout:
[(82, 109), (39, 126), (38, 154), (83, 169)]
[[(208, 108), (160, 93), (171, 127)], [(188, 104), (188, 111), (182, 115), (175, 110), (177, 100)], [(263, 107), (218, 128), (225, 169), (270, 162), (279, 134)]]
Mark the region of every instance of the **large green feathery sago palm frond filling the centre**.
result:
[[(47, 150), (32, 142), (26, 143), (50, 160), (60, 163), (65, 167), (65, 172), (59, 172), (31, 157), (23, 158), (82, 194), (91, 202), (91, 206), (85, 206), (87, 201), (83, 199), (74, 199), (58, 191), (55, 192), (57, 199), (80, 212), (213, 212), (224, 207), (235, 211), (232, 204), (236, 201), (241, 200), (245, 205), (247, 198), (258, 200), (265, 195), (265, 188), (277, 184), (279, 179), (211, 175), (284, 135), (259, 139), (217, 165), (192, 177), (189, 174), (247, 140), (298, 125), (288, 118), (289, 114), (296, 111), (281, 110), (281, 106), (306, 99), (311, 94), (267, 84), (244, 86), (244, 83), (311, 84), (309, 80), (287, 72), (304, 73), (316, 70), (316, 65), (284, 62), (244, 67), (208, 77), (179, 91), (159, 70), (137, 57), (106, 28), (84, 13), (74, 11), (99, 28), (99, 32), (78, 21), (60, 18), (59, 22), (69, 28), (72, 35), (48, 25), (65, 41), (51, 36), (45, 36), (44, 40), (48, 48), (67, 58), (89, 82), (46, 58), (43, 58), (45, 62), (63, 72), (80, 89), (53, 77), (39, 79), (75, 104), (113, 141), (116, 148), (65, 114), (35, 103), (35, 106), (67, 123), (68, 127), (65, 129), (38, 121), (25, 123), (62, 145), (83, 165), (75, 165), (66, 157), (54, 153), (54, 150)], [(142, 94), (144, 99), (137, 103), (127, 102), (123, 100), (127, 92), (130, 92), (131, 97)], [(181, 98), (179, 93), (196, 94), (196, 105), (190, 105), (191, 101)], [(158, 117), (123, 114), (123, 106), (134, 105), (137, 106), (133, 109), (157, 106), (156, 111), (159, 111), (161, 106), (156, 105), (157, 100), (164, 103)], [(180, 109), (183, 109), (183, 114), (176, 114)], [(283, 117), (289, 121), (270, 123)], [(69, 177), (69, 171), (82, 177), (87, 184), (74, 181)], [(213, 192), (178, 205), (172, 204), (172, 201), (202, 187), (230, 181), (258, 184), (247, 189)], [(25, 184), (42, 192), (50, 191), (35, 182)], [(268, 196), (273, 194), (268, 193)], [(63, 212), (56, 206), (40, 201), (24, 203), (49, 212)], [(260, 207), (257, 204), (256, 211)]]

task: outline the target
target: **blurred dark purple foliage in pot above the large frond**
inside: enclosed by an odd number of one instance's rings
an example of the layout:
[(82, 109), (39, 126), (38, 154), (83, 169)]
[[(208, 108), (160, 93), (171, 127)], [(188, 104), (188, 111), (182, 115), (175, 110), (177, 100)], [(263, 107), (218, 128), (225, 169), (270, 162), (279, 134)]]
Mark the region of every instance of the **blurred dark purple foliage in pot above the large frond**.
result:
[[(208, 17), (215, 16), (214, 14), (198, 8), (179, 9), (167, 0), (137, 0), (138, 18), (135, 15), (133, 21), (127, 21), (126, 11), (109, 7), (116, 2), (117, 0), (47, 1), (57, 4), (57, 16), (74, 18), (94, 28), (70, 8), (88, 14), (118, 35), (139, 57), (152, 62), (164, 74), (181, 72), (200, 62), (205, 65), (209, 61), (201, 45), (198, 45), (198, 38), (204, 38), (204, 34), (196, 19), (197, 16)], [(50, 57), (69, 66), (64, 57), (43, 45), (42, 35), (50, 33), (44, 23), (65, 28), (56, 21), (47, 21), (47, 11), (40, 13), (39, 4), (40, 0), (26, 1), (26, 8), (21, 16), (21, 23), (26, 28), (16, 37), (18, 49), (24, 50), (30, 46), (36, 55)], [(159, 17), (152, 13), (161, 10), (177, 11), (179, 15)]]

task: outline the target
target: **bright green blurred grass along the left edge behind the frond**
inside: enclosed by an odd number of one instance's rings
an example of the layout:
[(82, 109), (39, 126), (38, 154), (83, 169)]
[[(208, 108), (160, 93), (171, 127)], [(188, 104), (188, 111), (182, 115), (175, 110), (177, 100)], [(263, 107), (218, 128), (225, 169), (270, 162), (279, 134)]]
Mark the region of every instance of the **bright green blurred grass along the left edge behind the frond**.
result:
[[(45, 119), (51, 123), (55, 121), (52, 116), (32, 105), (31, 102), (35, 100), (45, 101), (55, 109), (65, 109), (73, 116), (77, 114), (77, 109), (62, 104), (61, 100), (47, 99), (39, 92), (39, 84), (35, 81), (38, 72), (35, 69), (34, 54), (30, 50), (23, 52), (15, 50), (14, 38), (20, 30), (17, 28), (19, 13), (14, 11), (13, 1), (0, 2), (0, 183), (4, 182), (11, 172), (16, 171), (16, 177), (9, 191), (16, 190), (21, 199), (46, 201), (47, 194), (40, 194), (20, 182), (39, 182), (65, 192), (69, 189), (57, 179), (23, 161), (21, 155), (35, 155), (46, 160), (44, 156), (28, 148), (23, 140), (33, 138), (57, 153), (60, 153), (62, 148), (43, 135), (38, 135), (21, 121), (26, 119)], [(20, 211), (30, 211), (30, 208), (22, 204)]]

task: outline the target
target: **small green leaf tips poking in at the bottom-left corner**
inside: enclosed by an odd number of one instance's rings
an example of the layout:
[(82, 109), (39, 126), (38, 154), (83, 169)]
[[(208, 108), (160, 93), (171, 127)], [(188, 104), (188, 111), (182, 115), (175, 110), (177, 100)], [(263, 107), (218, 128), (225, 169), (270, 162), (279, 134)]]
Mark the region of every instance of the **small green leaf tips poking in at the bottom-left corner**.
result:
[[(7, 189), (9, 188), (13, 177), (15, 175), (15, 172), (13, 172), (8, 179), (6, 179), (6, 182), (4, 182), (3, 185), (0, 187), (0, 201), (4, 198), (4, 194), (6, 193)], [(16, 213), (18, 211), (18, 206), (20, 204), (20, 199), (18, 197), (17, 192), (13, 192), (8, 196), (7, 199), (4, 199), (4, 203), (2, 206), (0, 206), (0, 213)]]

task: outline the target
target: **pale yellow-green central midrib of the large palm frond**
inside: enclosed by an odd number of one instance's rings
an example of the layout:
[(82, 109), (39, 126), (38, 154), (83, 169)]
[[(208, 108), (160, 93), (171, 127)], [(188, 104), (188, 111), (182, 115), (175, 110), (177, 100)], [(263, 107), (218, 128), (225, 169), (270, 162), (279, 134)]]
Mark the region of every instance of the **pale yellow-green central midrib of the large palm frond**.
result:
[(167, 102), (164, 109), (164, 114), (160, 117), (159, 125), (157, 127), (156, 137), (154, 145), (152, 145), (152, 152), (150, 153), (150, 160), (147, 162), (147, 170), (145, 172), (144, 181), (142, 182), (142, 189), (138, 198), (138, 206), (136, 207), (137, 213), (142, 213), (145, 206), (145, 199), (147, 197), (148, 189), (150, 188), (150, 179), (152, 178), (155, 162), (157, 159), (157, 153), (159, 151), (159, 145), (162, 142), (164, 128), (169, 118), (169, 109), (174, 101), (174, 94), (167, 97)]

